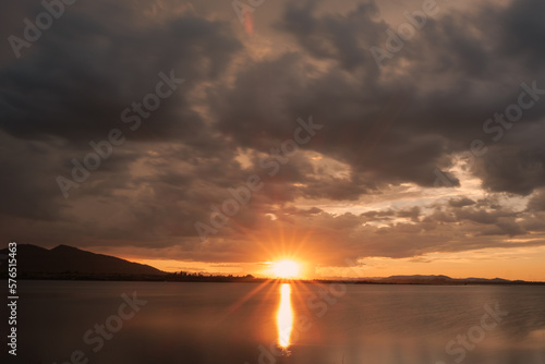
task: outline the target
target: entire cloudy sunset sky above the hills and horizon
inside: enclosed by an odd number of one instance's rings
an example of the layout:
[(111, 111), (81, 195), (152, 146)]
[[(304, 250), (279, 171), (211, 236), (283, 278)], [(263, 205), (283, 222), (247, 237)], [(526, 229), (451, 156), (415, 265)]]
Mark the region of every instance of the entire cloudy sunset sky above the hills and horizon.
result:
[(0, 5), (0, 239), (545, 280), (545, 2)]

